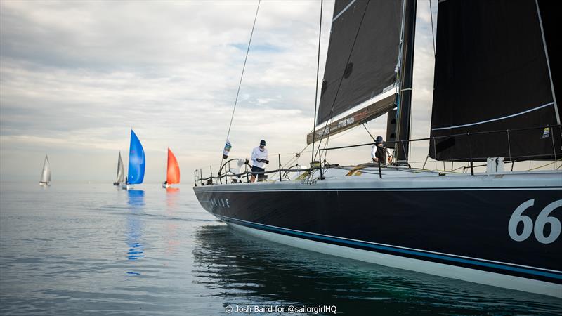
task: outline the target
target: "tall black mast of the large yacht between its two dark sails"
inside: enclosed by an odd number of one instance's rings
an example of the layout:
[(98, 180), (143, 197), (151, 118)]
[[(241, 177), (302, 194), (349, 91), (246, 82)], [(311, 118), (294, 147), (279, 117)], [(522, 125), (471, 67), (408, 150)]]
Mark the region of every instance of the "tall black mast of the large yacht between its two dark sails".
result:
[(416, 33), (417, 0), (405, 0), (402, 60), (400, 62), (400, 96), (396, 112), (396, 162), (407, 164), (410, 146), (410, 116), (412, 109), (412, 75), (414, 73), (414, 39)]

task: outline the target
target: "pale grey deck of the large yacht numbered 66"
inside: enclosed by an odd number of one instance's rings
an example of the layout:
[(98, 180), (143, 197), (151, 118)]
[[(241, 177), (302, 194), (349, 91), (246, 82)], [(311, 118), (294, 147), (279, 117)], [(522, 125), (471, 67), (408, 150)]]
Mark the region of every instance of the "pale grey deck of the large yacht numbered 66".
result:
[[(270, 173), (271, 175), (272, 173)], [(273, 173), (277, 175), (277, 173)], [(235, 178), (235, 177), (233, 177)], [(302, 190), (314, 187), (321, 190), (412, 190), (414, 188), (483, 188), (483, 187), (544, 187), (562, 186), (562, 171), (504, 171), (496, 173), (455, 173), (410, 168), (408, 166), (330, 166), (313, 174), (294, 171), (277, 178), (247, 183), (245, 177), (228, 184), (199, 185), (214, 190)]]

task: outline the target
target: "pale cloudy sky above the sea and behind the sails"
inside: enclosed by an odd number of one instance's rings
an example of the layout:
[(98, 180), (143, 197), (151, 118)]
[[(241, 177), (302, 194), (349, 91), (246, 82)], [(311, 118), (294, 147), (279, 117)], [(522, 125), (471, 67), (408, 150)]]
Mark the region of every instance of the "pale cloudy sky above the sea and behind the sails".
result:
[[(0, 180), (115, 180), (131, 128), (146, 153), (145, 182), (162, 182), (166, 148), (182, 182), (218, 166), (258, 1), (0, 1)], [(432, 1), (433, 19), (437, 3)], [(334, 1), (324, 1), (320, 80)], [(433, 36), (418, 1), (411, 138), (429, 136)], [(289, 163), (313, 127), (320, 1), (262, 1), (230, 131), (230, 157), (261, 139)], [(433, 25), (436, 27), (436, 25)], [(366, 124), (386, 136), (386, 115)], [(372, 142), (361, 126), (330, 146)], [(309, 152), (298, 162), (308, 164)], [(412, 149), (423, 162), (426, 145)], [(330, 152), (370, 161), (370, 147)], [(294, 159), (292, 160), (294, 162)], [(268, 168), (271, 168), (270, 164)], [(207, 172), (207, 171), (204, 171)]]

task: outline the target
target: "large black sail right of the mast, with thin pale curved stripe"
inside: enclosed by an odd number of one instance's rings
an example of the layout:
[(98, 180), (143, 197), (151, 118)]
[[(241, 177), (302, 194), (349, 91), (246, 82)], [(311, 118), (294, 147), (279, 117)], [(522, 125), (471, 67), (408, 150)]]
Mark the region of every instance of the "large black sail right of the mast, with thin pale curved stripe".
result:
[(562, 156), (554, 76), (547, 59), (555, 44), (554, 30), (549, 29), (554, 23), (539, 14), (542, 3), (439, 2), (432, 158), (514, 161)]

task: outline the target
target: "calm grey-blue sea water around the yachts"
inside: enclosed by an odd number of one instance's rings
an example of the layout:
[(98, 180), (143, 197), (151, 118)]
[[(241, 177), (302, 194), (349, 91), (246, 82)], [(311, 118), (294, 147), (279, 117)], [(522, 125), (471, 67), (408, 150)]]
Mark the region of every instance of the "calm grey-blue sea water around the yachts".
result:
[(137, 189), (0, 183), (0, 314), (221, 315), (230, 306), (263, 315), (254, 306), (282, 306), (272, 315), (289, 315), (304, 305), (343, 315), (562, 314), (562, 300), (548, 296), (255, 239), (205, 212), (189, 185)]

